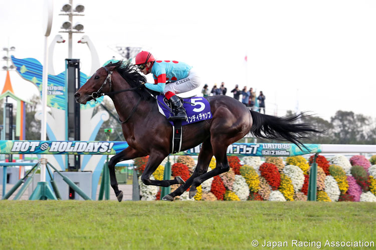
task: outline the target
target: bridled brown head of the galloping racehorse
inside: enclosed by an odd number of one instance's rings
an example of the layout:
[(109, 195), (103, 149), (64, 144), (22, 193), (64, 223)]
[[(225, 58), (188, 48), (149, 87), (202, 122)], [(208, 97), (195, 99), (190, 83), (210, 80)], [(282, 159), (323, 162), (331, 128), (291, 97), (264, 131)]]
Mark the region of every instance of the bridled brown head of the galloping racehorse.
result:
[(86, 104), (87, 101), (100, 97), (100, 93), (109, 92), (111, 73), (115, 66), (101, 67), (88, 79), (88, 81), (74, 94), (76, 101)]

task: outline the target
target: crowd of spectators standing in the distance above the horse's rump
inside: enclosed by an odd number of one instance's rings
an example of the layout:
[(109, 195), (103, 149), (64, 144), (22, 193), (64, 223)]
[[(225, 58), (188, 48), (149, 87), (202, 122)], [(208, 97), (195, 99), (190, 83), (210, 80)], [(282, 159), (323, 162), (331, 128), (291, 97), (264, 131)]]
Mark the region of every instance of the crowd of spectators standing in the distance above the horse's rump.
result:
[[(212, 90), (209, 90), (208, 84), (205, 84), (201, 93), (204, 97), (209, 95), (226, 95), (227, 87), (225, 87), (225, 82), (222, 82), (220, 87), (217, 86), (217, 83), (214, 83)], [(231, 90), (231, 93), (233, 93), (235, 99), (241, 101), (249, 109), (257, 109), (256, 111), (259, 112), (263, 109), (265, 113), (265, 95), (262, 91), (260, 91), (259, 95), (256, 97), (256, 91), (253, 91), (252, 87), (248, 90), (247, 86), (244, 86), (243, 89), (240, 90), (239, 85), (236, 84), (235, 88)], [(240, 96), (242, 96), (241, 99)], [(256, 101), (258, 102), (258, 107), (255, 107)]]

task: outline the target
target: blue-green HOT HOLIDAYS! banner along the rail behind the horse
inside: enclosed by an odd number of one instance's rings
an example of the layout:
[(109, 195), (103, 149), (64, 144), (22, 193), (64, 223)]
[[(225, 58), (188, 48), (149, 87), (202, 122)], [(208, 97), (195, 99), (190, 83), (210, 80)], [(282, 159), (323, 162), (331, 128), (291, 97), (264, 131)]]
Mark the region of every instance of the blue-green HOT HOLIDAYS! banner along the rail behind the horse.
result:
[[(2, 154), (117, 154), (128, 146), (126, 141), (53, 141), (0, 140)], [(174, 155), (199, 155), (201, 145)], [(227, 148), (230, 156), (288, 157), (321, 152), (321, 144), (304, 144), (301, 149), (292, 143), (233, 143)]]

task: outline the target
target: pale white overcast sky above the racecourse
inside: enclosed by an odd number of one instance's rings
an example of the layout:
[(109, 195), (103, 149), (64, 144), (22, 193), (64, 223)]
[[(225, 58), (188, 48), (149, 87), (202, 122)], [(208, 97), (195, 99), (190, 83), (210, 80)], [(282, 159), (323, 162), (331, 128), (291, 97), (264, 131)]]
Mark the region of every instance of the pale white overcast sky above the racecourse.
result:
[[(68, 0), (54, 0), (48, 44), (56, 34), (67, 40), (54, 49), (54, 70), (65, 70), (68, 34), (59, 33)], [(337, 110), (376, 117), (376, 1), (374, 0), (73, 0), (85, 5), (84, 34), (73, 34), (73, 58), (89, 74), (93, 42), (100, 63), (115, 45), (143, 47), (157, 59), (193, 65), (211, 88), (225, 82), (266, 96), (268, 114), (312, 111), (330, 120)], [(43, 62), (45, 1), (0, 1), (0, 47), (15, 46), (18, 58)], [(1, 50), (2, 56), (5, 51)], [(245, 60), (247, 56), (247, 62)], [(5, 65), (2, 61), (2, 65)], [(0, 71), (3, 89), (6, 71)], [(37, 88), (11, 72), (17, 95), (30, 99)], [(149, 77), (150, 79), (150, 77)], [(150, 81), (151, 82), (151, 81)], [(199, 87), (198, 92), (201, 92)]]

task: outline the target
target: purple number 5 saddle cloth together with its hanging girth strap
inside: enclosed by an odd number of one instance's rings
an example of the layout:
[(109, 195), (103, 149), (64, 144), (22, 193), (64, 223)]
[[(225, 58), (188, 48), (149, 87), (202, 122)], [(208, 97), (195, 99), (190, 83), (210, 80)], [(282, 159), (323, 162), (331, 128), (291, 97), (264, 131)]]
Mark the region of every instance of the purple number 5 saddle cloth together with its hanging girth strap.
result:
[[(183, 100), (183, 107), (186, 110), (187, 119), (180, 121), (168, 120), (173, 129), (172, 135), (172, 153), (179, 152), (181, 149), (181, 136), (183, 125), (208, 120), (212, 118), (209, 101), (204, 97), (180, 98)], [(173, 115), (171, 113), (171, 106), (164, 95), (157, 96), (158, 109), (161, 114), (166, 117)], [(168, 108), (167, 108), (168, 106)]]

